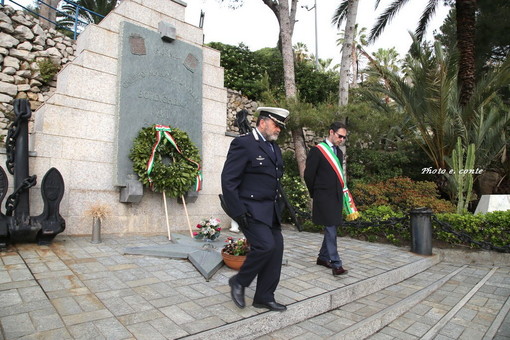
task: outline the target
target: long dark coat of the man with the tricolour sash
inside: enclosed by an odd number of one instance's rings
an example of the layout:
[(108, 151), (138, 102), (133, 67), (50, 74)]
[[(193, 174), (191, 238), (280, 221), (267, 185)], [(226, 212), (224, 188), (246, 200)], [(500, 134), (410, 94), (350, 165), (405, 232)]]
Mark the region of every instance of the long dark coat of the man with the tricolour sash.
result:
[[(338, 149), (342, 163), (343, 154)], [(308, 153), (305, 168), (305, 183), (313, 198), (312, 221), (330, 226), (342, 223), (343, 192), (338, 176), (317, 147)]]

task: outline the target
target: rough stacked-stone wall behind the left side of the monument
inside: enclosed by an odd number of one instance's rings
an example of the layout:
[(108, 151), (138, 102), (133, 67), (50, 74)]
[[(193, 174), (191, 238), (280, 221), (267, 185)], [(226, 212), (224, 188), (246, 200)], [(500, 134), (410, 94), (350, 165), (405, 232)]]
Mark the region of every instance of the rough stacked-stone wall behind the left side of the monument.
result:
[[(23, 98), (37, 110), (55, 91), (56, 77), (44, 82), (40, 61), (59, 69), (74, 59), (75, 42), (54, 29), (43, 29), (38, 19), (10, 6), (0, 7), (0, 135), (12, 115), (12, 102)], [(4, 130), (4, 131), (2, 131)]]

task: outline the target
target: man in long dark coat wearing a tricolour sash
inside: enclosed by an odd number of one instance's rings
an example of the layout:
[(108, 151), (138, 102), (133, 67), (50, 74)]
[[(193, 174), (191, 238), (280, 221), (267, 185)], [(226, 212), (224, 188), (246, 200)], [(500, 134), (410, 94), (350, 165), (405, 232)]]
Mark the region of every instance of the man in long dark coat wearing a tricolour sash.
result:
[(317, 264), (331, 268), (333, 275), (347, 273), (337, 249), (337, 227), (342, 223), (343, 207), (343, 185), (338, 175), (338, 170), (342, 171), (343, 154), (338, 146), (346, 138), (347, 128), (343, 123), (331, 124), (326, 140), (310, 150), (304, 174), (313, 199), (312, 221), (324, 226)]

